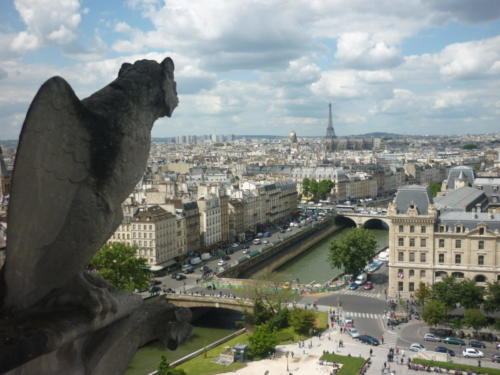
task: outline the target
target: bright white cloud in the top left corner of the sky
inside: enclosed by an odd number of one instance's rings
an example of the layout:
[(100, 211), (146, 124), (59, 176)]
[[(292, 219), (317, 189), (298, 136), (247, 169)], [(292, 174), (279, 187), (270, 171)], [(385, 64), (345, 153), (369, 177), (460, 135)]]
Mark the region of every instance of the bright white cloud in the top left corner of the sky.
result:
[(75, 40), (81, 21), (79, 0), (15, 0), (14, 4), (26, 30), (14, 38), (12, 49), (29, 51)]

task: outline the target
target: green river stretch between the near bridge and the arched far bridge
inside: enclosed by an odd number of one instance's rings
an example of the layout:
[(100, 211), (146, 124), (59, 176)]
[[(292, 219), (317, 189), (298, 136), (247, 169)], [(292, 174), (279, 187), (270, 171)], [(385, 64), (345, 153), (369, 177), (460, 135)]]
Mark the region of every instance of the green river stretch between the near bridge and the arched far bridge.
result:
[[(328, 261), (330, 243), (334, 240), (341, 240), (352, 228), (335, 232), (331, 236), (313, 246), (307, 252), (294, 258), (288, 263), (272, 272), (271, 278), (280, 281), (294, 281), (299, 279), (301, 284), (310, 282), (324, 283), (342, 273), (340, 269), (332, 269)], [(377, 240), (378, 249), (382, 249), (389, 244), (388, 231), (383, 229), (367, 229)], [(258, 278), (258, 273), (256, 278)]]

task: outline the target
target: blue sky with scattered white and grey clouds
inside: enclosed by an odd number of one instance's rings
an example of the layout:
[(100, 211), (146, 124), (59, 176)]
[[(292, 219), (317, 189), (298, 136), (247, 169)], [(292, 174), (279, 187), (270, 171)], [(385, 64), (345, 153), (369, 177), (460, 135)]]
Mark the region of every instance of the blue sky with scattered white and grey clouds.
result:
[(500, 132), (498, 0), (1, 0), (0, 139), (40, 85), (175, 63), (153, 136)]

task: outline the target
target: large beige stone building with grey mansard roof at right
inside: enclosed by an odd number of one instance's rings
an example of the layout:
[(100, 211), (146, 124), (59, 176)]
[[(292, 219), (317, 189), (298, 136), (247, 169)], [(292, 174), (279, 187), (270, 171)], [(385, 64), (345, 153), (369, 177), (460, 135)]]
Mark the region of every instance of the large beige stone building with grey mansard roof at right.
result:
[(480, 212), (479, 205), (466, 211), (464, 201), (478, 195), (465, 189), (445, 197), (447, 206), (426, 187), (398, 189), (388, 209), (389, 298), (412, 298), (420, 283), (444, 276), (479, 285), (500, 280), (500, 214)]

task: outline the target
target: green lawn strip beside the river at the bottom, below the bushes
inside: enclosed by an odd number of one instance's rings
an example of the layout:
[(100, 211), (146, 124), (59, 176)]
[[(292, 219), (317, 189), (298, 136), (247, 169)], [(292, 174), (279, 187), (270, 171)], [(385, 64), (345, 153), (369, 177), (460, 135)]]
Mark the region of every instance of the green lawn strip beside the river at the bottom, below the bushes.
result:
[(200, 354), (198, 357), (195, 357), (187, 362), (176, 367), (176, 369), (182, 369), (186, 371), (187, 374), (196, 374), (196, 375), (212, 375), (219, 374), (223, 372), (232, 372), (239, 370), (242, 367), (245, 367), (245, 363), (235, 362), (229, 366), (222, 366), (217, 363), (213, 363), (212, 360), (217, 358), (220, 354), (225, 351), (226, 346), (234, 346), (236, 344), (247, 344), (248, 343), (248, 334), (244, 333), (238, 337), (235, 337), (224, 344), (221, 344), (213, 349), (210, 349), (205, 354)]

